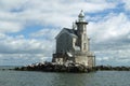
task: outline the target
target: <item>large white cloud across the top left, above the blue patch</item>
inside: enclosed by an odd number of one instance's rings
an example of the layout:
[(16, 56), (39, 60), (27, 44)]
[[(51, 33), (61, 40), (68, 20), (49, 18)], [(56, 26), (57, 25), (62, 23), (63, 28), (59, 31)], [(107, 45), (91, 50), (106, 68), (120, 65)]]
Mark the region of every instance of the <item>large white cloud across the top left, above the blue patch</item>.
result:
[(23, 27), (29, 23), (67, 27), (76, 19), (80, 10), (99, 12), (116, 5), (105, 0), (98, 3), (84, 0), (1, 0), (0, 4), (0, 9), (2, 9), (0, 19), (11, 19), (13, 23), (20, 23)]

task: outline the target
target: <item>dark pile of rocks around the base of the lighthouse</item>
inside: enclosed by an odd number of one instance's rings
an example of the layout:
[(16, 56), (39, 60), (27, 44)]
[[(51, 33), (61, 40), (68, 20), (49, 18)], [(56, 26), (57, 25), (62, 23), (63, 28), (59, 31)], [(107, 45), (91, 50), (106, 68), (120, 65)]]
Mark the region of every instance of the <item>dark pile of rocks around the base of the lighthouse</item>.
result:
[(15, 68), (18, 71), (43, 71), (43, 72), (91, 72), (93, 69), (79, 63), (57, 64), (52, 62), (37, 63), (22, 68)]

